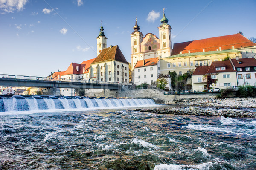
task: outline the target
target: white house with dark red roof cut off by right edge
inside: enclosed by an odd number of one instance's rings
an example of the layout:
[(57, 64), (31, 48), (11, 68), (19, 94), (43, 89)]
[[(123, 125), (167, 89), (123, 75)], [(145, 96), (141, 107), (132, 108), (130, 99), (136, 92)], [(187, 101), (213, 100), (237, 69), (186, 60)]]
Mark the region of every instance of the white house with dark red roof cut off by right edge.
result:
[(256, 59), (240, 58), (230, 60), (236, 69), (238, 86), (256, 86)]

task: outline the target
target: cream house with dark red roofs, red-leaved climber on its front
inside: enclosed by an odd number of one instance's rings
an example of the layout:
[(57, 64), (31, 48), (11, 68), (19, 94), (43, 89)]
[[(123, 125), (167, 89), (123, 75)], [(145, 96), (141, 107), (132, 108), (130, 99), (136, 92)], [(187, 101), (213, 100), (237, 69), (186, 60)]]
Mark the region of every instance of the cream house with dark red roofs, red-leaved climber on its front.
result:
[(207, 89), (205, 75), (211, 75), (212, 79), (217, 79), (211, 88), (226, 89), (230, 86), (237, 86), (236, 70), (230, 60), (213, 61), (210, 66), (199, 66), (192, 74), (192, 89), (203, 91)]

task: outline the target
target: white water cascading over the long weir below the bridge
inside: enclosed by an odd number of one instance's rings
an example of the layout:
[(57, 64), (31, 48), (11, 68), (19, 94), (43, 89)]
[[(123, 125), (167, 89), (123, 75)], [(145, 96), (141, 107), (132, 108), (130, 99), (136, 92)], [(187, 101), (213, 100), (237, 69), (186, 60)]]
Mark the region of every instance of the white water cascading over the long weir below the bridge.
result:
[(152, 99), (104, 98), (79, 96), (1, 96), (0, 112), (108, 107), (143, 107), (155, 105)]

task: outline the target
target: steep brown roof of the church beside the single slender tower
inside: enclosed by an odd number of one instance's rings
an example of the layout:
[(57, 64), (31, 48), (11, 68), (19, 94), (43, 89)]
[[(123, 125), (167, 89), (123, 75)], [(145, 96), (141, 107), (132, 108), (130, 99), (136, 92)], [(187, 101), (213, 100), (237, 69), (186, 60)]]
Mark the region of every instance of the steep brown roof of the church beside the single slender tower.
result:
[(100, 52), (99, 55), (95, 58), (93, 63), (99, 63), (102, 61), (110, 60), (116, 60), (129, 64), (118, 46), (110, 46), (108, 48), (103, 49), (102, 52)]

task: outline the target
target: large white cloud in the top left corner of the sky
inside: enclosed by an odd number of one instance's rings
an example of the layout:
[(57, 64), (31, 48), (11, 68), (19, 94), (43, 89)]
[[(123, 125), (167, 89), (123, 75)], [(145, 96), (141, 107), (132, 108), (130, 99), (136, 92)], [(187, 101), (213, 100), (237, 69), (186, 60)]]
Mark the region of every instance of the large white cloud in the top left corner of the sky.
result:
[(0, 0), (0, 10), (2, 14), (13, 13), (15, 10), (23, 10), (23, 6), (28, 0)]

